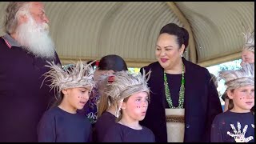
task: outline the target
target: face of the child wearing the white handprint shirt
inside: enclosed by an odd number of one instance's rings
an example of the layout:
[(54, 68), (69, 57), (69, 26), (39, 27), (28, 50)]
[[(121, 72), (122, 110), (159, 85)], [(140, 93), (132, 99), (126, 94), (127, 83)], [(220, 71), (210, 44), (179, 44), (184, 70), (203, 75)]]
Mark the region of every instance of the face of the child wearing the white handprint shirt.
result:
[(240, 88), (227, 91), (230, 99), (234, 102), (234, 110), (238, 113), (250, 112), (254, 106), (254, 86), (242, 86)]

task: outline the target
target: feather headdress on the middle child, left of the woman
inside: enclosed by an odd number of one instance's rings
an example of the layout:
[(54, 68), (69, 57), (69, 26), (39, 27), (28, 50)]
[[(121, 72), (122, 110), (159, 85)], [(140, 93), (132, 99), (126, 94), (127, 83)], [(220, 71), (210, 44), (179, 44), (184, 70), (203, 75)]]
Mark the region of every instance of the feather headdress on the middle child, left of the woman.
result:
[(137, 94), (139, 92), (146, 92), (150, 94), (150, 88), (147, 86), (147, 82), (150, 78), (149, 71), (145, 74), (130, 74), (128, 70), (118, 71), (108, 77), (104, 93), (110, 96), (114, 102), (118, 102), (118, 108), (116, 111), (116, 117), (119, 117), (119, 111), (124, 98), (130, 97), (130, 95)]

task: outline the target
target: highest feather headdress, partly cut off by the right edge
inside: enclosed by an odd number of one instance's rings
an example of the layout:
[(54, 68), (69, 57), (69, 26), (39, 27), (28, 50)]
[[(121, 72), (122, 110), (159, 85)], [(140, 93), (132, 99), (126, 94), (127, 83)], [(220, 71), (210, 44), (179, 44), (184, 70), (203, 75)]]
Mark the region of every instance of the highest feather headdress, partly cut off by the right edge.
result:
[(250, 50), (254, 52), (254, 31), (244, 34), (244, 37), (246, 42), (242, 50)]

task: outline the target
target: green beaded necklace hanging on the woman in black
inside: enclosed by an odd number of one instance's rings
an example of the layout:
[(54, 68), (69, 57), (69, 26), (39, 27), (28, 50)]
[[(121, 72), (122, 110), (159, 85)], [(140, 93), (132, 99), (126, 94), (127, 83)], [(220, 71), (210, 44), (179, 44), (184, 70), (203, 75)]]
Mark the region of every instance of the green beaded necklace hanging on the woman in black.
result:
[(178, 94), (178, 107), (173, 106), (173, 102), (170, 98), (170, 90), (169, 90), (169, 86), (168, 86), (168, 82), (167, 82), (167, 78), (166, 78), (166, 73), (164, 72), (163, 74), (163, 79), (164, 79), (164, 85), (165, 85), (165, 93), (166, 93), (166, 101), (168, 102), (168, 105), (170, 106), (171, 109), (182, 109), (183, 108), (183, 103), (184, 103), (184, 93), (185, 93), (185, 79), (184, 79), (184, 64), (182, 65), (182, 85), (181, 88), (179, 90), (179, 94)]

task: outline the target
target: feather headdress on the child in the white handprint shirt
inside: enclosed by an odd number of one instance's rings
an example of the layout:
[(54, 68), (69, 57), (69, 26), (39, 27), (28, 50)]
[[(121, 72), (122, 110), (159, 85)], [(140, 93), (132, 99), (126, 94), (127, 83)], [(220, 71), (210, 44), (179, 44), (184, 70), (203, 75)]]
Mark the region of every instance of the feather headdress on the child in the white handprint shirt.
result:
[(246, 63), (240, 70), (221, 71), (218, 74), (218, 80), (221, 79), (225, 81), (226, 90), (254, 86), (254, 63)]

